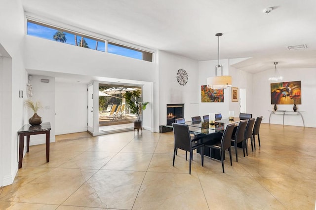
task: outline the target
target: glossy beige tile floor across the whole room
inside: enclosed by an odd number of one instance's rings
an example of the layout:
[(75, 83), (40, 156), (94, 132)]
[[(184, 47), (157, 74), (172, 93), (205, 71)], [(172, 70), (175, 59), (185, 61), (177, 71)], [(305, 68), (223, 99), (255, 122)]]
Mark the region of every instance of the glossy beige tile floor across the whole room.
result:
[[(233, 166), (185, 152), (172, 167), (173, 133), (143, 130), (91, 137), (56, 136), (30, 147), (14, 183), (0, 187), (0, 209), (12, 210), (314, 210), (316, 128), (262, 124), (261, 148)], [(250, 143), (249, 143), (250, 146)]]

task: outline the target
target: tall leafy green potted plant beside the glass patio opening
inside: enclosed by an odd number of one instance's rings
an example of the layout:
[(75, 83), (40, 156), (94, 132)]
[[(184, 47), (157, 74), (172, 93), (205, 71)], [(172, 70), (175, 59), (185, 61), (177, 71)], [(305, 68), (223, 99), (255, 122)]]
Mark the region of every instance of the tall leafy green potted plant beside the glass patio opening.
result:
[(149, 104), (149, 102), (138, 102), (137, 99), (140, 98), (140, 95), (140, 90), (133, 90), (133, 92), (127, 91), (123, 96), (126, 104), (130, 108), (130, 112), (136, 114), (138, 117), (138, 120), (134, 121), (134, 128), (142, 128), (140, 114), (142, 110), (145, 110), (146, 106)]

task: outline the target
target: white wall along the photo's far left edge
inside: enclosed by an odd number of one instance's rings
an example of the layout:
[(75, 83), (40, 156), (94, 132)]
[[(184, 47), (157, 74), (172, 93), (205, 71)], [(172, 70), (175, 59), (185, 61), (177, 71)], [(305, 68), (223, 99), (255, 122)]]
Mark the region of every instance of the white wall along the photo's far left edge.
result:
[[(5, 6), (4, 6), (5, 5)], [(18, 170), (17, 131), (23, 125), (23, 98), (19, 90), (26, 91), (24, 68), (24, 11), (20, 0), (1, 0), (0, 45), (12, 60), (2, 60), (0, 83), (0, 186), (11, 184)], [(3, 77), (2, 77), (3, 75)]]

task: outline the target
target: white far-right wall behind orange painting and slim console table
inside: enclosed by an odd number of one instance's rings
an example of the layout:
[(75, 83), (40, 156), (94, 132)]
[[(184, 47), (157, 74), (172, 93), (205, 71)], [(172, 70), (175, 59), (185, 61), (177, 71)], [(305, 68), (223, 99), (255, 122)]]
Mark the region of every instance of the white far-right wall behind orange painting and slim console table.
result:
[[(297, 105), (298, 111), (302, 112), (305, 126), (316, 127), (316, 68), (306, 69), (278, 69), (283, 76), (282, 81), (301, 81), (302, 105)], [(273, 110), (271, 105), (271, 82), (269, 77), (274, 75), (274, 69), (262, 71), (253, 75), (254, 84), (254, 113), (255, 116), (263, 115), (264, 123), (269, 123), (270, 112)], [(278, 109), (293, 111), (293, 105), (277, 105)], [(283, 124), (282, 115), (271, 116), (272, 124)], [(285, 125), (303, 126), (300, 116), (285, 116)]]

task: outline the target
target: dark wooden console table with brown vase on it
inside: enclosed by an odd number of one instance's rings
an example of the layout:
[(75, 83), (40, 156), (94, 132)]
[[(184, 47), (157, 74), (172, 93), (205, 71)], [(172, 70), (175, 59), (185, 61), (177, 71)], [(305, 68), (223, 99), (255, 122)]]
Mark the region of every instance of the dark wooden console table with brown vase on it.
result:
[(26, 136), (26, 152), (29, 152), (30, 136), (36, 134), (46, 134), (46, 162), (49, 162), (49, 135), (50, 123), (41, 123), (40, 125), (25, 124), (19, 131), (19, 169), (22, 168), (23, 150), (24, 150), (24, 137)]

